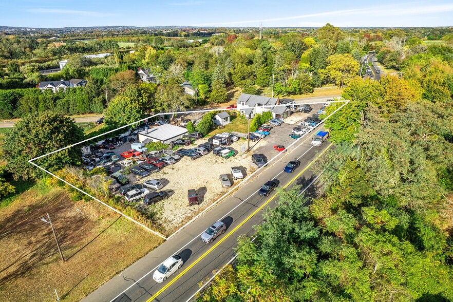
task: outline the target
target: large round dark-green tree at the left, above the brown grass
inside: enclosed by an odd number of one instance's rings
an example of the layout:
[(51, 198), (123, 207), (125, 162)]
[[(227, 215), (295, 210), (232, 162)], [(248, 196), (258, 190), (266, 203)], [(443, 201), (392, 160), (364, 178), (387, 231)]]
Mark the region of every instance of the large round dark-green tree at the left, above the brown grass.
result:
[[(74, 121), (50, 111), (29, 114), (14, 124), (3, 146), (7, 169), (14, 179), (30, 179), (43, 175), (28, 160), (83, 140), (83, 130)], [(51, 142), (51, 143), (50, 143)], [(80, 148), (71, 147), (36, 160), (50, 172), (66, 165), (80, 164)]]

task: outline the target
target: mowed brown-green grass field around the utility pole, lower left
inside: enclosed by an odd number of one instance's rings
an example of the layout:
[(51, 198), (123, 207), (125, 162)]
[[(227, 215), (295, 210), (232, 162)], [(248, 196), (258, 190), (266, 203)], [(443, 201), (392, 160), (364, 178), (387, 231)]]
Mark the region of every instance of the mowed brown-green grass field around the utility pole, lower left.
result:
[[(96, 201), (32, 187), (0, 209), (0, 301), (79, 301), (162, 240)], [(64, 257), (56, 249), (50, 213)], [(47, 219), (47, 218), (46, 218)]]

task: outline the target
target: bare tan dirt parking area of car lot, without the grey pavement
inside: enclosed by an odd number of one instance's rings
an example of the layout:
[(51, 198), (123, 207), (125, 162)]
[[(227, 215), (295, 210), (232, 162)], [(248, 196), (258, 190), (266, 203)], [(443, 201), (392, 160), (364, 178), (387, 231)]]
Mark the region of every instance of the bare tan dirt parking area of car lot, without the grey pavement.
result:
[[(204, 139), (200, 139), (196, 141), (196, 144), (198, 145), (205, 141)], [(258, 148), (267, 143), (268, 141), (265, 138), (253, 144), (251, 143), (251, 146)], [(216, 156), (212, 152), (196, 160), (183, 157), (175, 164), (167, 165), (159, 172), (150, 176), (137, 179), (135, 176), (129, 174), (127, 178), (134, 184), (143, 183), (149, 179), (156, 179), (162, 182), (164, 187), (161, 190), (169, 193), (168, 199), (159, 201), (157, 204), (150, 205), (149, 207), (154, 207), (153, 210), (157, 210), (160, 213), (161, 218), (159, 222), (163, 224), (165, 230), (171, 232), (187, 220), (187, 218), (190, 218), (194, 212), (204, 209), (230, 190), (228, 187), (221, 186), (219, 180), (220, 174), (228, 174), (232, 186), (234, 186), (242, 180), (233, 180), (231, 167), (241, 167), (244, 177), (252, 174), (256, 170), (256, 166), (251, 160), (251, 154), (241, 154), (241, 146), (247, 147), (247, 140), (240, 139), (230, 146), (236, 150), (237, 155), (229, 159)], [(188, 206), (188, 189), (195, 189), (197, 191), (199, 205)], [(139, 209), (146, 208), (142, 201), (138, 202), (137, 207)]]

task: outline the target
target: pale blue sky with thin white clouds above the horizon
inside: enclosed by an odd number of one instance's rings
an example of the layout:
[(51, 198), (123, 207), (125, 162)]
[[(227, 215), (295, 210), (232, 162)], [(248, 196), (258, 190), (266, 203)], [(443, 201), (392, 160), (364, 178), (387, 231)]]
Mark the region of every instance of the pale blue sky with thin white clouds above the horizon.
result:
[(453, 0), (0, 0), (0, 25), (201, 27), (430, 27), (453, 25)]

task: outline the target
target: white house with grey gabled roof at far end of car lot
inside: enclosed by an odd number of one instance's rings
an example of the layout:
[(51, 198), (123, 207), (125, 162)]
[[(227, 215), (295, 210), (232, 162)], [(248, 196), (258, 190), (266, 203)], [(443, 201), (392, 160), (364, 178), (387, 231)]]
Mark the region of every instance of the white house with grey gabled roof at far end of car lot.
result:
[(242, 93), (237, 99), (237, 110), (246, 118), (252, 119), (256, 114), (271, 111), (273, 118), (287, 118), (291, 115), (293, 99), (270, 98)]

